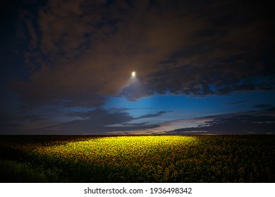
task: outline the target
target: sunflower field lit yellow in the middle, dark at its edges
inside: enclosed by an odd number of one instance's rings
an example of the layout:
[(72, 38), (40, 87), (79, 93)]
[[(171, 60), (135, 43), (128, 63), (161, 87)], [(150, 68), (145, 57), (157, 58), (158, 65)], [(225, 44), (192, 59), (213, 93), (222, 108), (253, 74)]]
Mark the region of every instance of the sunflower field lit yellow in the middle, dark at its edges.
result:
[(275, 182), (273, 135), (0, 139), (1, 182)]

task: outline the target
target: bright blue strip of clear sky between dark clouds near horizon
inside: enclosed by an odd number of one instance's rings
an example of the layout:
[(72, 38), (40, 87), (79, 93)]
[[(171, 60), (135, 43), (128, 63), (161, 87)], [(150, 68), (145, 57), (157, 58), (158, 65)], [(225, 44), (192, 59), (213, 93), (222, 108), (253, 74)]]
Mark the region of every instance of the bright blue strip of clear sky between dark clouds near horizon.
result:
[[(148, 122), (150, 124), (166, 125), (166, 129), (178, 129), (185, 127), (197, 127), (209, 118), (202, 117), (244, 113), (257, 111), (257, 103), (267, 103), (272, 106), (275, 100), (274, 92), (247, 92), (231, 94), (230, 96), (175, 96), (173, 94), (156, 94), (140, 98), (138, 101), (128, 101), (123, 97), (110, 97), (104, 104), (106, 110), (127, 111), (133, 117), (142, 117), (147, 114), (165, 113), (153, 117), (132, 120), (130, 123), (138, 124)], [(255, 107), (256, 106), (256, 107)], [(197, 120), (196, 120), (197, 118)], [(116, 126), (123, 126), (118, 124)], [(152, 129), (151, 129), (152, 130)], [(157, 128), (159, 130), (159, 128)]]

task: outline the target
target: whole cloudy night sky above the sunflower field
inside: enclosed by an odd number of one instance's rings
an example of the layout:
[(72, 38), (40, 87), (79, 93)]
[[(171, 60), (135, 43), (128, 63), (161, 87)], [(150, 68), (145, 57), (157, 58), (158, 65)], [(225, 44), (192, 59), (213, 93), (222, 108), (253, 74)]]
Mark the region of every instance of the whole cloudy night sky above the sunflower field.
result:
[(0, 134), (275, 134), (268, 1), (0, 7)]

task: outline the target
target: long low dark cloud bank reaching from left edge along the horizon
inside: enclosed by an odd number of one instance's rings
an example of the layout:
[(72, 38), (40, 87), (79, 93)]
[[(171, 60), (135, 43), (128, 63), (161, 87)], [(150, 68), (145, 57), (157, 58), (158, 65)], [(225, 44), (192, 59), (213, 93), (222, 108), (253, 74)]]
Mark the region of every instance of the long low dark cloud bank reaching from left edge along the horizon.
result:
[[(154, 129), (159, 125), (150, 122), (135, 123), (131, 121), (157, 117), (167, 113), (159, 111), (154, 114), (140, 115), (133, 117), (123, 110), (104, 110), (94, 109), (88, 111), (77, 110), (70, 113), (61, 113), (58, 109), (43, 110), (44, 114), (27, 113), (18, 115), (9, 115), (0, 113), (0, 134), (111, 134), (112, 132), (130, 132), (136, 130)], [(132, 109), (131, 109), (132, 110)], [(50, 120), (54, 114), (58, 114), (59, 118), (66, 116), (66, 119), (73, 118), (75, 120), (59, 123)], [(44, 126), (44, 125), (51, 126)], [(125, 133), (126, 134), (126, 133)]]

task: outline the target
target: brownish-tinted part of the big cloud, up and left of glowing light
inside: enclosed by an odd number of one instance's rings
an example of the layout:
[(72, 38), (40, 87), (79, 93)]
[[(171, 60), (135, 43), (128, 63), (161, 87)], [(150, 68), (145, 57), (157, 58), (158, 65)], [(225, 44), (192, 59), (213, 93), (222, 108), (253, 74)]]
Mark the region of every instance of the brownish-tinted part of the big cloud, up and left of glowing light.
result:
[(30, 48), (37, 50), (26, 56), (35, 72), (29, 82), (12, 84), (27, 101), (114, 95), (133, 69), (141, 76), (154, 72), (154, 63), (178, 49), (178, 42), (197, 28), (194, 21), (194, 27), (177, 31), (187, 19), (169, 11), (149, 12), (149, 2), (72, 2), (49, 1), (39, 10), (37, 26), (28, 23), (36, 40)]

